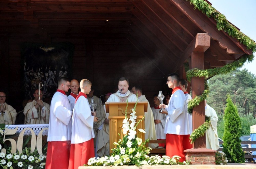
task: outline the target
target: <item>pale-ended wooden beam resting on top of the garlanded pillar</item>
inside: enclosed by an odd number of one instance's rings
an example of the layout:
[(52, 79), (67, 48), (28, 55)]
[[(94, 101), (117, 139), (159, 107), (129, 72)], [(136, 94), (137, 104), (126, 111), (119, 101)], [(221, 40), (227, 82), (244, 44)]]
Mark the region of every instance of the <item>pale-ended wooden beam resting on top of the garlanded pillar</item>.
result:
[(185, 62), (192, 52), (205, 52), (210, 47), (210, 41), (210, 34), (198, 33), (182, 53), (179, 62), (176, 64), (176, 69)]

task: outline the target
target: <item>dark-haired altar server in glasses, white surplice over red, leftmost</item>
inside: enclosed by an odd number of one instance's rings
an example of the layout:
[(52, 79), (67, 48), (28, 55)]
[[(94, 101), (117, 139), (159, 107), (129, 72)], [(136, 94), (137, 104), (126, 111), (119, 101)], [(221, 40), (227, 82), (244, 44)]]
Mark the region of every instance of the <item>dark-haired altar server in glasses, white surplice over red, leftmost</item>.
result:
[(65, 92), (68, 92), (69, 88), (69, 80), (60, 78), (57, 92), (52, 98), (45, 169), (68, 169), (72, 111)]

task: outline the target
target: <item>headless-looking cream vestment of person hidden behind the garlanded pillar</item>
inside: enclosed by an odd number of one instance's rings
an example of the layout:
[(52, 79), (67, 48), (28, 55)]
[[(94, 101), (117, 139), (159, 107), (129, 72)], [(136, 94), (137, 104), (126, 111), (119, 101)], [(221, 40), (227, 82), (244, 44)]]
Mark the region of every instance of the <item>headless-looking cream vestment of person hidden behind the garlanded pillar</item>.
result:
[(207, 101), (204, 102), (205, 106), (205, 116), (210, 116), (211, 118), (211, 126), (206, 131), (206, 148), (212, 150), (219, 149), (219, 140), (218, 140), (218, 133), (217, 133), (217, 123), (218, 123), (218, 116), (215, 110), (207, 104)]

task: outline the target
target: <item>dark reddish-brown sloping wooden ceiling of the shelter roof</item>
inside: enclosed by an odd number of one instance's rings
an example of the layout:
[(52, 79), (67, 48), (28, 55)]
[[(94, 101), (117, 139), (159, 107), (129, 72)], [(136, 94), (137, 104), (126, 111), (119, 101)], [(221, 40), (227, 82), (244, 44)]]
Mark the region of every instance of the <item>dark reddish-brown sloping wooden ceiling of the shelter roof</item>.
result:
[(127, 38), (163, 73), (186, 62), (197, 33), (211, 34), (205, 69), (252, 54), (186, 0), (1, 0), (0, 36)]

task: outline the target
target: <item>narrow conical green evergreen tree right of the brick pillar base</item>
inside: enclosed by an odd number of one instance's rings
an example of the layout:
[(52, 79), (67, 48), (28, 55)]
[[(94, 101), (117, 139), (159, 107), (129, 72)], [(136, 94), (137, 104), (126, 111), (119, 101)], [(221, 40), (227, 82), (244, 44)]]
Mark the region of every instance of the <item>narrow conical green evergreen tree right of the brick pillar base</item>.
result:
[(227, 98), (227, 107), (224, 114), (223, 152), (231, 163), (244, 163), (244, 152), (241, 148), (241, 120), (237, 107), (230, 96)]

